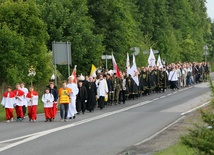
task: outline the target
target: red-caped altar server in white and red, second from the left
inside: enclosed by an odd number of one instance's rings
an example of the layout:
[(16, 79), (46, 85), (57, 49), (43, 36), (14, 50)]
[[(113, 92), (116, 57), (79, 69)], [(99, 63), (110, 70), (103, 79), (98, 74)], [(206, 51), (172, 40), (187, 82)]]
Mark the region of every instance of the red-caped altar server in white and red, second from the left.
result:
[(21, 122), (24, 119), (22, 106), (24, 104), (24, 94), (25, 93), (21, 90), (20, 84), (16, 85), (16, 90), (14, 90), (13, 93), (16, 95), (16, 97), (15, 97), (16, 116), (17, 116), (16, 121)]

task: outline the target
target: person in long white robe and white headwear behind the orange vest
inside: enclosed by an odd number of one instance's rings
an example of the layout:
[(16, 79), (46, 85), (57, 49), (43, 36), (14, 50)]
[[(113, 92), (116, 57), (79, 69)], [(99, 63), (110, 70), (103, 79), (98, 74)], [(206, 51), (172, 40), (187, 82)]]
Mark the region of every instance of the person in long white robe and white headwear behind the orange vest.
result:
[(76, 110), (76, 96), (79, 93), (79, 89), (77, 87), (77, 84), (74, 83), (74, 76), (71, 75), (68, 77), (68, 84), (67, 87), (72, 90), (70, 94), (70, 103), (69, 103), (69, 108), (68, 108), (68, 118), (69, 119), (75, 119), (77, 110)]

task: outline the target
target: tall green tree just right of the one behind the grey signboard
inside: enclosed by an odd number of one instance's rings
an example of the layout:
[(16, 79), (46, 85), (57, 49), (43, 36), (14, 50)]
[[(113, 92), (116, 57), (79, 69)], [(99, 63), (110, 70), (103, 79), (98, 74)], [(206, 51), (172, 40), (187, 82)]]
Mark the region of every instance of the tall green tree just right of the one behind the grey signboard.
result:
[(88, 0), (88, 7), (96, 34), (104, 37), (104, 54), (113, 52), (119, 66), (125, 69), (130, 47), (141, 46), (141, 19), (135, 0)]

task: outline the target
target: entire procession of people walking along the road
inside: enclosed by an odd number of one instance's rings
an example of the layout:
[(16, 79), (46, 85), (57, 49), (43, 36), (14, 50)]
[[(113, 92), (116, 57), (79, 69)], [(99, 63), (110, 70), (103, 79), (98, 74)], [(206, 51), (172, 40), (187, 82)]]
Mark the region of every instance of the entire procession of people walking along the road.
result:
[[(188, 87), (207, 80), (209, 67), (206, 62), (176, 63), (167, 66), (148, 66), (138, 68), (139, 85), (127, 74), (127, 69), (120, 72), (120, 76), (108, 70), (97, 71), (96, 76), (68, 77), (59, 89), (50, 81), (42, 95), (45, 122), (56, 118), (58, 107), (60, 121), (75, 119), (85, 111), (93, 112), (95, 108), (102, 110), (106, 106), (125, 104), (126, 100), (136, 99), (152, 93), (172, 91)], [(16, 89), (11, 86), (3, 94), (2, 106), (5, 108), (7, 122), (12, 122), (14, 109), (16, 121), (21, 122), (28, 109), (29, 121), (37, 119), (38, 93), (30, 86), (29, 91), (24, 82), (17, 84)]]

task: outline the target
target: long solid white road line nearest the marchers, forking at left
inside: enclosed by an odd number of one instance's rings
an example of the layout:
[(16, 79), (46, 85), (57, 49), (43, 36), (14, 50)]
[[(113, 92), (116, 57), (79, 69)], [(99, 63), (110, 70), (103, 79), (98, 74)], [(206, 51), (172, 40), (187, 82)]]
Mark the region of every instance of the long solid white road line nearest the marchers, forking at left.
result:
[[(68, 129), (68, 128), (71, 128), (71, 127), (74, 127), (74, 126), (78, 126), (78, 125), (81, 125), (81, 124), (84, 124), (84, 123), (95, 121), (95, 120), (98, 120), (98, 119), (101, 119), (101, 118), (105, 118), (105, 117), (108, 117), (108, 116), (111, 116), (111, 115), (114, 115), (114, 114), (117, 114), (117, 113), (121, 113), (121, 112), (130, 110), (130, 109), (134, 109), (134, 108), (146, 105), (146, 104), (148, 104), (150, 102), (151, 101), (144, 101), (144, 102), (138, 103), (136, 105), (132, 105), (130, 107), (126, 107), (126, 108), (123, 108), (123, 109), (120, 109), (120, 110), (116, 110), (116, 111), (113, 111), (113, 112), (108, 112), (108, 113), (105, 113), (105, 114), (102, 114), (102, 115), (99, 115), (99, 116), (95, 116), (95, 117), (92, 117), (92, 118), (88, 118), (88, 119), (85, 119), (85, 120), (82, 120), (82, 121), (78, 121), (78, 122), (75, 122), (75, 123), (72, 123), (72, 124), (68, 124), (68, 125), (64, 125), (64, 126), (61, 126), (61, 127), (54, 128), (54, 129), (49, 129), (49, 130), (37, 132), (37, 133), (34, 133), (34, 134), (21, 136), (21, 137), (18, 137), (18, 138), (13, 138), (13, 139), (1, 141), (0, 144), (3, 144), (3, 143), (12, 142), (12, 141), (15, 141), (15, 140), (22, 139), (22, 140), (20, 140), (18, 142), (14, 142), (14, 143), (8, 144), (6, 146), (3, 146), (2, 148), (0, 148), (0, 152), (5, 151), (7, 149), (10, 149), (12, 147), (15, 147), (17, 145), (32, 141), (32, 140), (37, 139), (39, 137), (51, 134), (53, 132), (57, 132), (57, 131)], [(26, 139), (23, 139), (23, 138), (26, 138)]]

